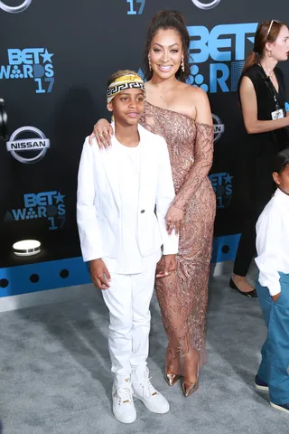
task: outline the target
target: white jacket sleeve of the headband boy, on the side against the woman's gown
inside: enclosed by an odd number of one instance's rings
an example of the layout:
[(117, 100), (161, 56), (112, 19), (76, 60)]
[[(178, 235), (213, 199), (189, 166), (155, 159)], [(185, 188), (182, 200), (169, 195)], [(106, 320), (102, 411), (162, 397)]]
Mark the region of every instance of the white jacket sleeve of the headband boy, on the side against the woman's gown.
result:
[(166, 230), (164, 217), (168, 211), (173, 198), (174, 187), (172, 182), (172, 167), (167, 144), (163, 137), (160, 137), (158, 155), (158, 188), (156, 193), (156, 215), (159, 222), (160, 231), (163, 239), (163, 255), (173, 255), (178, 253), (179, 236), (174, 230), (169, 235)]

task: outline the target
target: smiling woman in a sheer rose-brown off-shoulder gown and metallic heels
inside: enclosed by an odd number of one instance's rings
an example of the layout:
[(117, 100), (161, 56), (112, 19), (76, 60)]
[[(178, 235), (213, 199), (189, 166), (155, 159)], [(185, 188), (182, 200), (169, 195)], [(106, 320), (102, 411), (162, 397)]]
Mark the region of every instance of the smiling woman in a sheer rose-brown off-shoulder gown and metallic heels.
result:
[[(166, 215), (168, 231), (180, 232), (177, 271), (157, 278), (156, 294), (169, 343), (166, 379), (183, 375), (186, 396), (198, 389), (205, 361), (205, 321), (216, 199), (207, 177), (213, 127), (206, 93), (185, 84), (190, 75), (189, 34), (176, 11), (156, 14), (144, 50), (146, 101), (141, 124), (165, 138), (175, 199)], [(107, 146), (111, 129), (98, 121), (95, 135)], [(157, 271), (162, 268), (158, 264)]]

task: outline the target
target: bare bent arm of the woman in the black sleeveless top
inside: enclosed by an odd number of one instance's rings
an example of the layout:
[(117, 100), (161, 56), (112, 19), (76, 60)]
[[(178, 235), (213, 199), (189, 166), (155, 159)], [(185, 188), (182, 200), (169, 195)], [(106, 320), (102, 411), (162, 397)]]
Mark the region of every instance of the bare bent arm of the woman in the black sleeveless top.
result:
[(289, 125), (289, 117), (275, 120), (258, 120), (256, 91), (252, 81), (243, 77), (240, 86), (240, 99), (244, 124), (248, 134), (266, 133)]

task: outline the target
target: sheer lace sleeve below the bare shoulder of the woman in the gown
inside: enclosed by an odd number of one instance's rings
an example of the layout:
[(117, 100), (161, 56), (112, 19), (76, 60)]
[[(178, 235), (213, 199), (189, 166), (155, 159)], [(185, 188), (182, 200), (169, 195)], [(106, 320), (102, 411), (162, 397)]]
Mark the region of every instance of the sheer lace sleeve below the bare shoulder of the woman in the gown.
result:
[(213, 161), (213, 127), (196, 122), (195, 159), (172, 204), (183, 208), (209, 174)]

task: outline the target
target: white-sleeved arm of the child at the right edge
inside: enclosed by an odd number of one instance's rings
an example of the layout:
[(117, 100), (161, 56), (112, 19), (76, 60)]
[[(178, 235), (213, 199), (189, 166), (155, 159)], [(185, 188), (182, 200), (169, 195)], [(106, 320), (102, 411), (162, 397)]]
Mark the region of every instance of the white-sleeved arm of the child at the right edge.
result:
[[(281, 292), (280, 276), (280, 241), (282, 240), (280, 215), (272, 212), (256, 226), (256, 265), (260, 271), (259, 282), (267, 287), (270, 296)], [(281, 252), (282, 255), (282, 252)]]

